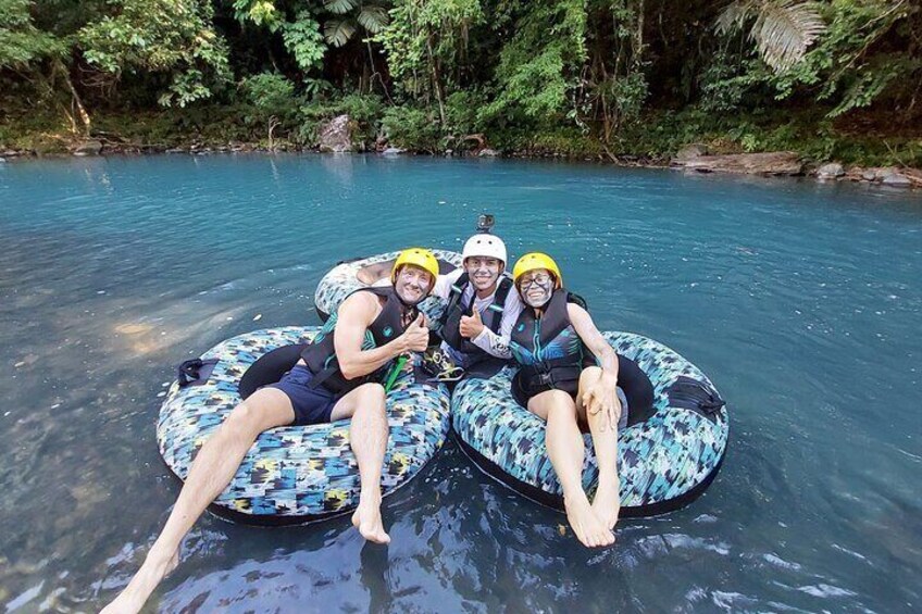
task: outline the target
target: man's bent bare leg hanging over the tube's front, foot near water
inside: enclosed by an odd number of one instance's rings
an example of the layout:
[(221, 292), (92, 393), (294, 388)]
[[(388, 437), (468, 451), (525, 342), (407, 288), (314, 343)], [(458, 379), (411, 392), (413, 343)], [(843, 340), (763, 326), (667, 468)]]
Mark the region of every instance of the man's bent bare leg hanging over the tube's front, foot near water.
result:
[(352, 514), (352, 524), (369, 541), (389, 543), (390, 536), (385, 532), (381, 519), (381, 472), (387, 448), (384, 387), (365, 384), (342, 397), (333, 409), (331, 419), (349, 416), (352, 417), (349, 441), (362, 480), (359, 508)]

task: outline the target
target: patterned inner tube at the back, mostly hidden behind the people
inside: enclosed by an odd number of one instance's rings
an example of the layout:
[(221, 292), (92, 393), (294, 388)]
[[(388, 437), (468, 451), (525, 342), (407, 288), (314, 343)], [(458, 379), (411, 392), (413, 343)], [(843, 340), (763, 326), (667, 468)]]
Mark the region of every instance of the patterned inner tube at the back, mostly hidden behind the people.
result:
[[(461, 254), (447, 250), (432, 250), (438, 259), (439, 272), (444, 275), (461, 266)], [(340, 262), (323, 276), (314, 293), (314, 305), (320, 318), (326, 322), (339, 303), (350, 293), (372, 285), (388, 285), (390, 268), (400, 252), (388, 252), (371, 258), (360, 258)], [(384, 279), (384, 281), (376, 281)], [(445, 301), (429, 297), (420, 303), (420, 310), (429, 321), (436, 321), (445, 311)]]

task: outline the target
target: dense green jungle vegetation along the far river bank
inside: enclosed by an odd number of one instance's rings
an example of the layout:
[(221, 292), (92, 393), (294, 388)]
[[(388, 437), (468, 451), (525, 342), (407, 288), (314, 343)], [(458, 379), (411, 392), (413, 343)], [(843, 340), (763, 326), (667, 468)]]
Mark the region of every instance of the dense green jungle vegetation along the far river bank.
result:
[(0, 143), (922, 166), (922, 0), (0, 0)]

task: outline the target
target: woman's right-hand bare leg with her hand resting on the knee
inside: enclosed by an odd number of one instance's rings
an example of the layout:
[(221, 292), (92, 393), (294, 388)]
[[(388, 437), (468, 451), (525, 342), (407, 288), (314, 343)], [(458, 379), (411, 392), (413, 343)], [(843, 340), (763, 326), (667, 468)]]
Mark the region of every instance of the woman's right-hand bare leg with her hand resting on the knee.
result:
[[(589, 414), (583, 406), (583, 391), (595, 384), (601, 375), (602, 369), (597, 366), (583, 369), (583, 374), (580, 376), (580, 392), (576, 394), (576, 411), (589, 424), (589, 433), (593, 434), (593, 448), (596, 450), (596, 459), (599, 463), (599, 486), (593, 501), (593, 511), (605, 526), (612, 529), (618, 523), (618, 514), (621, 512), (621, 481), (618, 478), (618, 421), (602, 430), (602, 426), (606, 424), (602, 413)], [(612, 390), (612, 394), (618, 408), (615, 413), (621, 415), (621, 402), (618, 400), (614, 390)]]

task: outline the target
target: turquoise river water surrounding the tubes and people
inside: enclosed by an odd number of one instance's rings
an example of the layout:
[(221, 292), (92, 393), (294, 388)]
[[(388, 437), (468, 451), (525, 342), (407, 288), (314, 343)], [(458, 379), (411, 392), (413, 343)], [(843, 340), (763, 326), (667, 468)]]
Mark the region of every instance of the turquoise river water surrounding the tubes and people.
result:
[(922, 591), (922, 209), (855, 186), (374, 156), (0, 167), (0, 604), (91, 611), (137, 569), (178, 484), (154, 421), (173, 367), (316, 324), (344, 258), (460, 249), (497, 214), (602, 328), (674, 347), (731, 401), (724, 468), (606, 551), (449, 441), (385, 503), (264, 529), (208, 516), (151, 605), (178, 611), (912, 611)]

